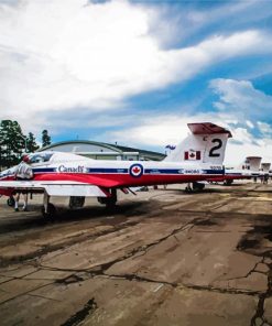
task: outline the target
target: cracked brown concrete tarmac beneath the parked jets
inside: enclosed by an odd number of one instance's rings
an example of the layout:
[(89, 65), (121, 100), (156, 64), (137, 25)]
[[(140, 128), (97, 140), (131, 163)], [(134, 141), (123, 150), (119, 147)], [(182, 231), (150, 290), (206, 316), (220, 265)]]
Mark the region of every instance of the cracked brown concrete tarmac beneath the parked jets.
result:
[(95, 199), (54, 222), (0, 198), (1, 325), (272, 325), (272, 185)]

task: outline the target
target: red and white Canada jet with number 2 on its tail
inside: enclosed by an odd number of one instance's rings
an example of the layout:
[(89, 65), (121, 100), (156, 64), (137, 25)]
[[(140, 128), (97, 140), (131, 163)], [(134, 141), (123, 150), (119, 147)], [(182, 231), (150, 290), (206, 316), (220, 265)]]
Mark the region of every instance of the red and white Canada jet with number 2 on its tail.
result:
[(84, 206), (85, 197), (97, 197), (99, 203), (112, 208), (118, 189), (129, 193), (130, 187), (222, 176), (221, 162), (230, 131), (210, 122), (188, 123), (188, 128), (193, 140), (183, 141), (162, 162), (102, 161), (52, 151), (26, 154), (19, 165), (1, 172), (0, 194), (11, 196), (22, 189), (43, 193), (43, 216), (52, 218), (56, 209), (50, 203), (51, 196), (68, 196), (70, 208)]

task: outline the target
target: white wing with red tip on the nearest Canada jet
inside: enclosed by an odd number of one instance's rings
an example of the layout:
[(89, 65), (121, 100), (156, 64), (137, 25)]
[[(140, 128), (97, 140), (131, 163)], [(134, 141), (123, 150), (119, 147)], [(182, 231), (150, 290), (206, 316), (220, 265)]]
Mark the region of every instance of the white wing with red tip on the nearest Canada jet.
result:
[(50, 196), (109, 197), (110, 193), (97, 185), (73, 181), (3, 181), (0, 194), (11, 195), (13, 191), (46, 191)]

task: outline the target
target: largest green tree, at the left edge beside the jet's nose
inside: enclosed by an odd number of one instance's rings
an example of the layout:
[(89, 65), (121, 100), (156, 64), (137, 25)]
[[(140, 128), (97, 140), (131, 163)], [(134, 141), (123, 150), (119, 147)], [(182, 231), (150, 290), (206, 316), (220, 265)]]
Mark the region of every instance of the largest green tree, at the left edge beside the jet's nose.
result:
[(18, 121), (2, 120), (0, 122), (0, 165), (10, 167), (19, 163), (25, 150), (26, 137)]

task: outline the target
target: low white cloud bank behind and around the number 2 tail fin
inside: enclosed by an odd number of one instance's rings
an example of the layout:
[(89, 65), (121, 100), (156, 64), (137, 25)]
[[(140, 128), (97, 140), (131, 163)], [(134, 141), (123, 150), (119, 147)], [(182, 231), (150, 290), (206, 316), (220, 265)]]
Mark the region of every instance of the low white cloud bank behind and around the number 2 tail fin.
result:
[[(263, 161), (272, 162), (271, 124), (261, 118), (269, 117), (272, 109), (272, 97), (254, 89), (250, 82), (215, 79), (211, 88), (219, 96), (219, 112), (205, 112), (188, 116), (161, 115), (138, 120), (138, 126), (111, 133), (112, 139), (144, 145), (164, 148), (176, 144), (188, 132), (188, 122), (214, 122), (231, 130), (233, 139), (226, 151), (226, 164), (238, 165), (248, 155), (260, 155)], [(253, 106), (251, 106), (253, 105)], [(253, 108), (252, 111), (249, 108)], [(260, 120), (246, 120), (244, 117)], [(261, 138), (260, 138), (261, 135)]]

